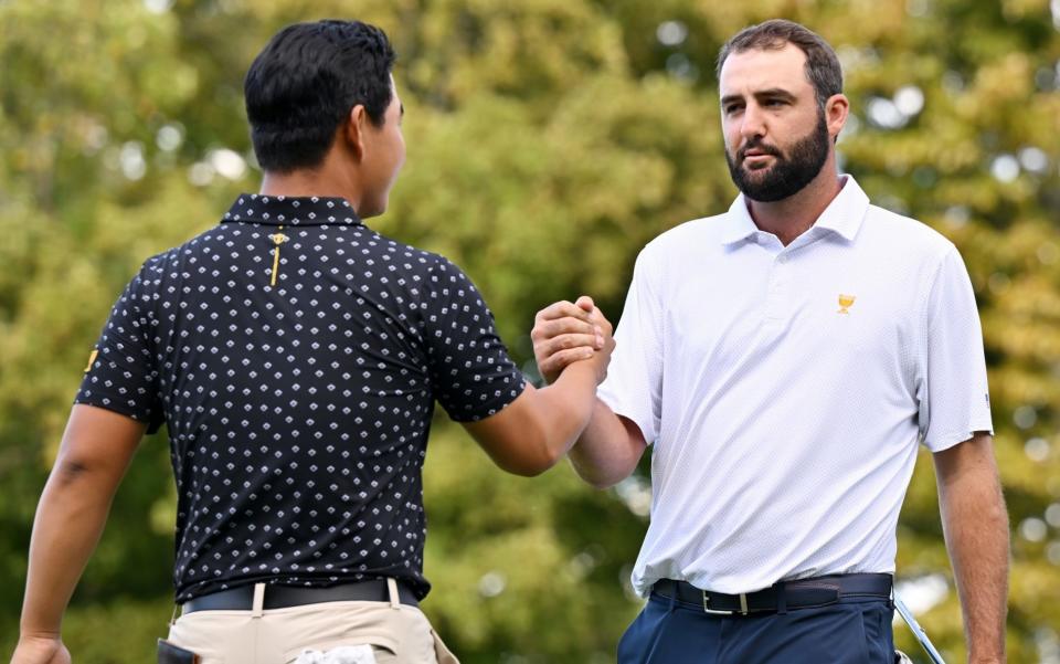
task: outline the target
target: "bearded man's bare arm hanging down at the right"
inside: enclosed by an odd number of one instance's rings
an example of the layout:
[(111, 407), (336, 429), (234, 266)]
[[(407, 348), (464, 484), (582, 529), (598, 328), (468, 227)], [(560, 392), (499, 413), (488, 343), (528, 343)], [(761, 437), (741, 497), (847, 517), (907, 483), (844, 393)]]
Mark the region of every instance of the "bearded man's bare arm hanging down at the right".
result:
[(935, 452), (934, 462), (968, 662), (1005, 662), (1009, 530), (993, 438), (977, 432)]

